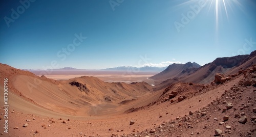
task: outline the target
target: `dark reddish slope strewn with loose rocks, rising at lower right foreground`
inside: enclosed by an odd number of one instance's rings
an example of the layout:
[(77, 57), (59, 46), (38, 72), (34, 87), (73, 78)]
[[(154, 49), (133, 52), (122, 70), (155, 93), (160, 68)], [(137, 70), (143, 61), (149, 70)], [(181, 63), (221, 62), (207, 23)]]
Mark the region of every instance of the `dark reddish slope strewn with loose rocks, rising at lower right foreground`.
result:
[[(256, 136), (256, 66), (230, 77), (235, 79), (240, 75), (243, 78), (237, 84), (210, 104), (202, 104), (206, 106), (198, 111), (188, 111), (183, 117), (162, 121), (145, 131), (134, 129), (130, 134), (112, 136)], [(224, 86), (230, 79), (216, 74), (215, 83), (209, 89)]]

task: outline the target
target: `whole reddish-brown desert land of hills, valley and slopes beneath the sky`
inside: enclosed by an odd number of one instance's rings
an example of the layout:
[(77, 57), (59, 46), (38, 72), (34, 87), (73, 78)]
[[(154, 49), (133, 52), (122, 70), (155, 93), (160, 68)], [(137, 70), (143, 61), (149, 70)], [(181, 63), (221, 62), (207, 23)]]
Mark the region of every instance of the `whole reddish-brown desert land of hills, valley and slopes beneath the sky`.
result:
[(256, 136), (256, 51), (156, 75), (0, 69), (0, 136)]

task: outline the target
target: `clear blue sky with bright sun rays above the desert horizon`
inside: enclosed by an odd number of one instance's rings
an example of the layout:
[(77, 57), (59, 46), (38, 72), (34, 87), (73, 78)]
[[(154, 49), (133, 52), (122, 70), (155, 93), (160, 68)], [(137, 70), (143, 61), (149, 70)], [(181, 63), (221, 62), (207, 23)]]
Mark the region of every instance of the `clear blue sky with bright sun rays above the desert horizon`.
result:
[(204, 65), (256, 49), (253, 0), (5, 0), (0, 13), (0, 63), (20, 69)]

